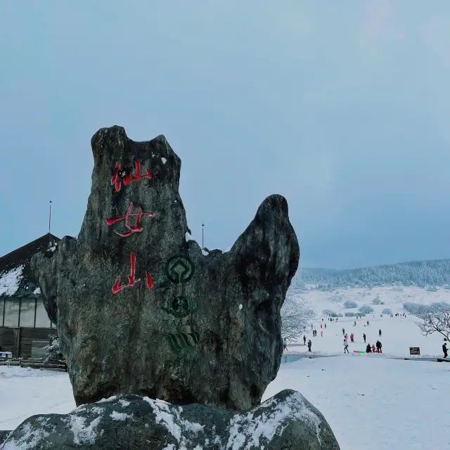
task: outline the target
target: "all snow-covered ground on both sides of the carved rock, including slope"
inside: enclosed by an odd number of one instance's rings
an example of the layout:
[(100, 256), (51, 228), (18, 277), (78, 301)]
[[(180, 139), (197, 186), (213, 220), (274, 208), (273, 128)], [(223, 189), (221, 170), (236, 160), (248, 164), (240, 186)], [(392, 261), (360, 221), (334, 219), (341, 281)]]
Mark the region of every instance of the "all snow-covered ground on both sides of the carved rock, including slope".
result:
[[(366, 295), (364, 295), (366, 293)], [(449, 291), (430, 293), (418, 288), (373, 288), (338, 290), (333, 293), (308, 291), (303, 294), (320, 314), (323, 309), (355, 311), (342, 307), (345, 300), (371, 304), (379, 295), (384, 305), (372, 305), (372, 314), (359, 319), (340, 318), (338, 323), (321, 318), (314, 324), (313, 350), (338, 354), (330, 358), (302, 358), (282, 364), (278, 376), (267, 388), (263, 400), (283, 389), (298, 390), (316, 406), (330, 423), (342, 450), (450, 449), (450, 408), (446, 397), (450, 364), (405, 361), (387, 356), (409, 356), (409, 347), (420, 347), (425, 355), (442, 356), (439, 335), (420, 335), (412, 316), (406, 319), (383, 316), (384, 308), (403, 312), (402, 302), (448, 301)], [(411, 295), (411, 297), (409, 297)], [(335, 297), (334, 297), (335, 296)], [(337, 297), (342, 297), (337, 300)], [(370, 326), (364, 326), (369, 320)], [(342, 326), (356, 340), (350, 354), (343, 355)], [(383, 355), (355, 354), (364, 350), (362, 334), (376, 342), (381, 328)], [(304, 352), (303, 345), (288, 345), (289, 352)], [(39, 413), (68, 413), (75, 408), (72, 387), (66, 373), (0, 366), (0, 430), (12, 430), (25, 418)], [(204, 449), (206, 450), (206, 449)]]

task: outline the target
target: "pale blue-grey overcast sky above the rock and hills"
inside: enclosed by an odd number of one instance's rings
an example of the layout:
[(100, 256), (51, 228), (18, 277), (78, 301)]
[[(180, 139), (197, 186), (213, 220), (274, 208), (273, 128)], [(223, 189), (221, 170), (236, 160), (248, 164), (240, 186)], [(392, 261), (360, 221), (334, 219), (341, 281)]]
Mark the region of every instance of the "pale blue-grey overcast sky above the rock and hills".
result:
[(193, 237), (288, 199), (302, 266), (450, 257), (450, 1), (0, 2), (0, 255), (78, 233), (90, 139), (165, 134)]

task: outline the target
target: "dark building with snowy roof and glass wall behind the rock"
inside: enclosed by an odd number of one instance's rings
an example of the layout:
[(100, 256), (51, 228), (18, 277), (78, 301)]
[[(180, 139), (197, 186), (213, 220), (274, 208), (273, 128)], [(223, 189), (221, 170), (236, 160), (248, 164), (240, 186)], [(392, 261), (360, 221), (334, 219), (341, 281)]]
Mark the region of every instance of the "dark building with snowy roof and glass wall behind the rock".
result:
[(56, 250), (59, 238), (47, 233), (0, 258), (0, 347), (14, 357), (41, 357), (56, 334), (30, 268), (37, 252)]

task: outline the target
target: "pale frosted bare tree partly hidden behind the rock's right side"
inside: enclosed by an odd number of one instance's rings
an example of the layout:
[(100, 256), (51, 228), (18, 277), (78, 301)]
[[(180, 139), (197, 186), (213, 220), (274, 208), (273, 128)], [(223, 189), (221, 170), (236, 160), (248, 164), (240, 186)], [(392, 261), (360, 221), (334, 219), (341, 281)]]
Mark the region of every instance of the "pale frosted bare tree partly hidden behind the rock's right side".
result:
[(301, 295), (286, 295), (281, 307), (281, 335), (287, 343), (296, 342), (307, 326), (316, 317), (311, 304)]

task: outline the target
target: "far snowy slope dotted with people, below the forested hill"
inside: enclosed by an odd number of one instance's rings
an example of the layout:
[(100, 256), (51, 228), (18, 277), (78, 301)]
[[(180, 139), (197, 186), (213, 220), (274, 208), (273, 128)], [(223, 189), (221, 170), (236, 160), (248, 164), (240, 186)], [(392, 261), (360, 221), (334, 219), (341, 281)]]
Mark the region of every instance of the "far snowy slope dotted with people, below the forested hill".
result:
[[(313, 337), (311, 330), (307, 330), (307, 339), (312, 341), (312, 352), (315, 354), (342, 354), (344, 352), (344, 338), (342, 328), (348, 335), (354, 333), (354, 343), (349, 342), (349, 352), (354, 350), (366, 349), (364, 345), (363, 334), (366, 334), (367, 342), (375, 344), (380, 339), (383, 344), (383, 356), (409, 356), (409, 347), (420, 347), (421, 356), (443, 356), (442, 343), (443, 337), (437, 333), (429, 336), (423, 336), (416, 325), (415, 317), (404, 311), (404, 302), (413, 302), (429, 304), (431, 302), (450, 302), (450, 291), (446, 289), (438, 290), (435, 293), (428, 292), (421, 288), (373, 288), (369, 289), (349, 289), (334, 290), (333, 292), (323, 292), (309, 290), (301, 294), (304, 300), (310, 302), (311, 308), (316, 311), (318, 319), (314, 321), (314, 327), (317, 330), (317, 337)], [(385, 304), (372, 304), (373, 298), (378, 295), (379, 299)], [(356, 320), (352, 317), (340, 317), (338, 321), (323, 322), (323, 310), (330, 309), (336, 313), (356, 312), (357, 308), (345, 309), (343, 303), (345, 300), (354, 300), (358, 307), (370, 305), (373, 307), (373, 314), (367, 314), (366, 317)], [(397, 312), (403, 314), (406, 312), (406, 318), (401, 316), (390, 317), (383, 314), (383, 309), (389, 308), (392, 314)], [(356, 321), (356, 326), (354, 326)], [(366, 322), (369, 321), (369, 326)], [(323, 328), (320, 328), (321, 323)], [(324, 328), (326, 324), (327, 328)], [(381, 329), (381, 338), (378, 331)], [(323, 331), (323, 336), (321, 335)], [(307, 352), (307, 347), (303, 345), (302, 338), (299, 339), (301, 345), (288, 345), (287, 353)], [(447, 345), (449, 348), (450, 346)], [(376, 355), (381, 356), (381, 355)]]

